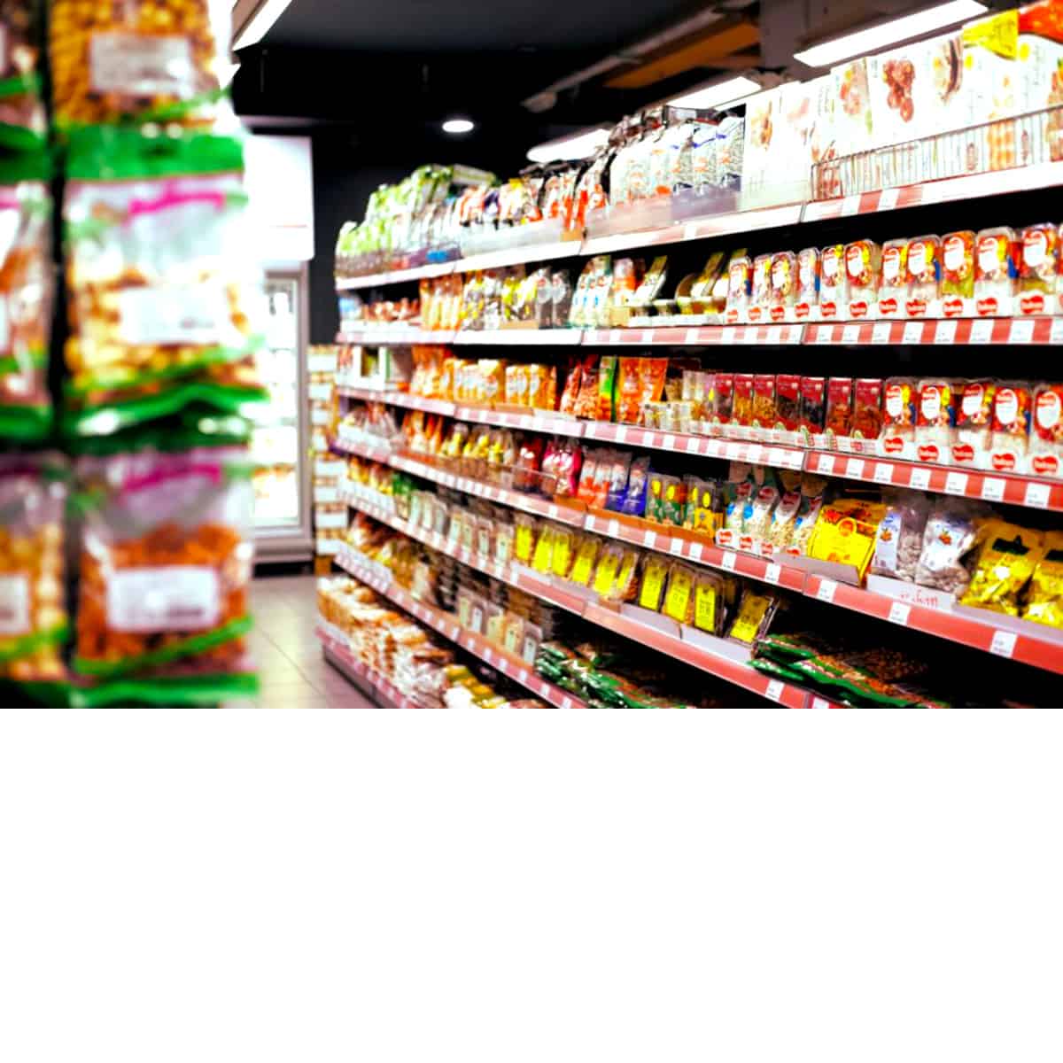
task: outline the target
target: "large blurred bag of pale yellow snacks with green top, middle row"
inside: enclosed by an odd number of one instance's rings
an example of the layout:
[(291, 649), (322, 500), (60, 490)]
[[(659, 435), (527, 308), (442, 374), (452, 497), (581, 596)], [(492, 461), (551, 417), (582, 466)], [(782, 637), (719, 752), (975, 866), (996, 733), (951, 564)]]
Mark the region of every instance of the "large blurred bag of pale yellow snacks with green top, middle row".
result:
[[(265, 395), (261, 274), (242, 148), (204, 134), (97, 128), (71, 139), (64, 202), (77, 412), (91, 435), (190, 402), (239, 411)], [(108, 408), (103, 425), (97, 407)], [(103, 411), (100, 411), (103, 412)]]

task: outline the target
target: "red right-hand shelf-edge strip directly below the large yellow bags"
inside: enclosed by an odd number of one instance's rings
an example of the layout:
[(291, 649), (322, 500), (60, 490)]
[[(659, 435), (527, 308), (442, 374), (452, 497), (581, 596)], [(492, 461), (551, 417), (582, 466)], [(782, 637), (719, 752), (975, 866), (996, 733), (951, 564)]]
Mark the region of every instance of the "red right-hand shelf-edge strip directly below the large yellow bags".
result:
[[(1063, 675), (1063, 641), (1052, 640), (1050, 637), (1039, 639), (1010, 627), (998, 626), (994, 623), (994, 618), (998, 614), (988, 610), (980, 610), (984, 613), (984, 620), (976, 620), (965, 613), (909, 605), (885, 594), (848, 587), (814, 574), (809, 574), (805, 593), (844, 609), (853, 609), (901, 627)], [(1046, 636), (1050, 631), (1050, 628), (1046, 628)]]

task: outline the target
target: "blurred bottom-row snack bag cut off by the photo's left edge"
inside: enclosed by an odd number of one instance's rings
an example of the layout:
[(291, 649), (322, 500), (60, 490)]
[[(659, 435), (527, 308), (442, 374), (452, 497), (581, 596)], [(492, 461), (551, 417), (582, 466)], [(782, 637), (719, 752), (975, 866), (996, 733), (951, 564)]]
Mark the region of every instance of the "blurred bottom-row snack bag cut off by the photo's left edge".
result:
[(63, 521), (67, 470), (58, 455), (0, 455), (0, 677), (65, 678)]

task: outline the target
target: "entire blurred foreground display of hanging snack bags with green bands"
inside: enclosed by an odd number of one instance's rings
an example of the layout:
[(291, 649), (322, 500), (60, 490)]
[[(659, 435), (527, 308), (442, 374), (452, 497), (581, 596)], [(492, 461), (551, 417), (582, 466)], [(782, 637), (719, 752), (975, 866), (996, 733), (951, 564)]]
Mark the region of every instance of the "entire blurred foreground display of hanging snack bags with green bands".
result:
[[(188, 3), (162, 13), (164, 62), (156, 9), (51, 5), (50, 126), (37, 7), (0, 14), (0, 667), (14, 701), (203, 704), (256, 686), (243, 415), (265, 394), (260, 279), (217, 79), (227, 40)], [(66, 322), (52, 317), (52, 176)]]

